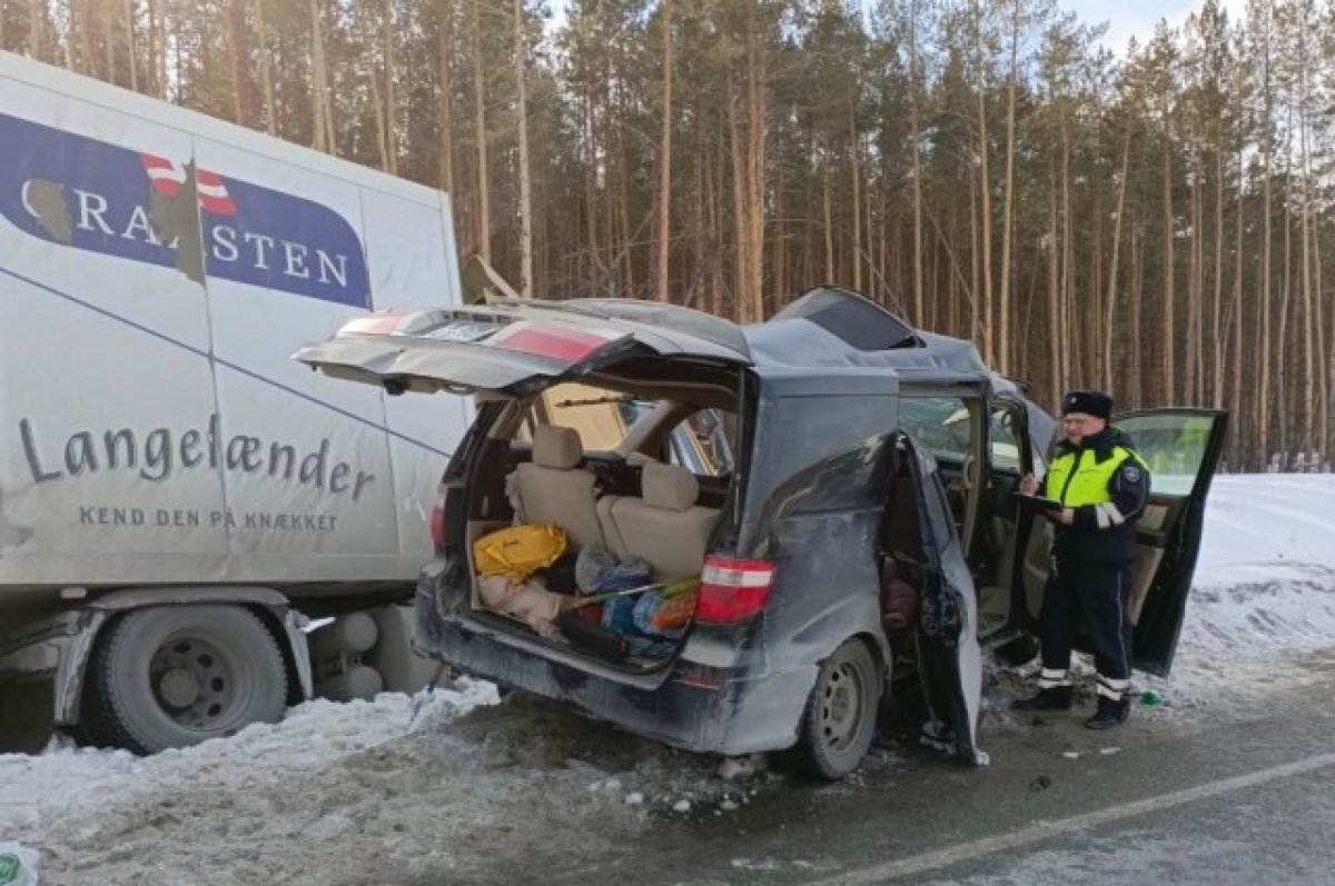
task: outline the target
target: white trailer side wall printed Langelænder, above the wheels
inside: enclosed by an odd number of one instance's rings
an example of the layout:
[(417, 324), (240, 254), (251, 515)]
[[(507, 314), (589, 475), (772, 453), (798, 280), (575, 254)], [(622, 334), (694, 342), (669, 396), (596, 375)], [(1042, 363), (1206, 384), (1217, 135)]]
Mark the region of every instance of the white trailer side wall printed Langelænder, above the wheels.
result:
[(410, 582), (458, 398), (290, 355), (458, 303), (435, 191), (0, 53), (0, 595)]

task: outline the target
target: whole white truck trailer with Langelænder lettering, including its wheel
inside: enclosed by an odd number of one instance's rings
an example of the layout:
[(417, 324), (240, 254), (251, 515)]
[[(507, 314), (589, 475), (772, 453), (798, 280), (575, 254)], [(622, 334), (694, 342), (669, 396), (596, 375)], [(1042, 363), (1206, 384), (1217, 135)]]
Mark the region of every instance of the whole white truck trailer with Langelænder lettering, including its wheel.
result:
[(328, 683), (374, 689), (471, 407), (290, 356), (459, 302), (447, 195), (3, 52), (0, 145), (0, 731), (276, 719), (320, 615)]

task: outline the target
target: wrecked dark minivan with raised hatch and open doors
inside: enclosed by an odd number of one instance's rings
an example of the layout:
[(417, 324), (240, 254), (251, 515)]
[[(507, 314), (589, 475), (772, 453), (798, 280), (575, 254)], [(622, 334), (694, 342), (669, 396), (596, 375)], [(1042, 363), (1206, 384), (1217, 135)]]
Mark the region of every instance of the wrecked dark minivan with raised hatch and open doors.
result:
[[(1013, 492), (1055, 423), (967, 342), (825, 287), (749, 327), (623, 299), (382, 312), (296, 359), (475, 399), (433, 514), (419, 652), (673, 746), (794, 749), (830, 779), (912, 690), (926, 739), (981, 758), (981, 644), (1025, 640), (1041, 606), (1047, 524)], [(1176, 478), (1155, 478), (1133, 591), (1136, 664), (1167, 673), (1224, 415), (1117, 424)], [(550, 620), (517, 616), (478, 562), (515, 524), (558, 526), (577, 579), (641, 575), (590, 594), (558, 562), (525, 584), (559, 598)], [(682, 587), (657, 635), (615, 606)]]

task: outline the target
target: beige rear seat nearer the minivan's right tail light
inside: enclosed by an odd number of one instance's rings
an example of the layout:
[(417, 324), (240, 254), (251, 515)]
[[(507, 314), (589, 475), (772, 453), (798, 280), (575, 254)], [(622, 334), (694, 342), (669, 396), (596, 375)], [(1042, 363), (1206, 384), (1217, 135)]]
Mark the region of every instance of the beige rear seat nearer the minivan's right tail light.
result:
[(609, 495), (598, 502), (598, 520), (617, 556), (642, 556), (654, 580), (698, 575), (718, 511), (697, 507), (700, 483), (684, 467), (649, 462), (642, 496)]

